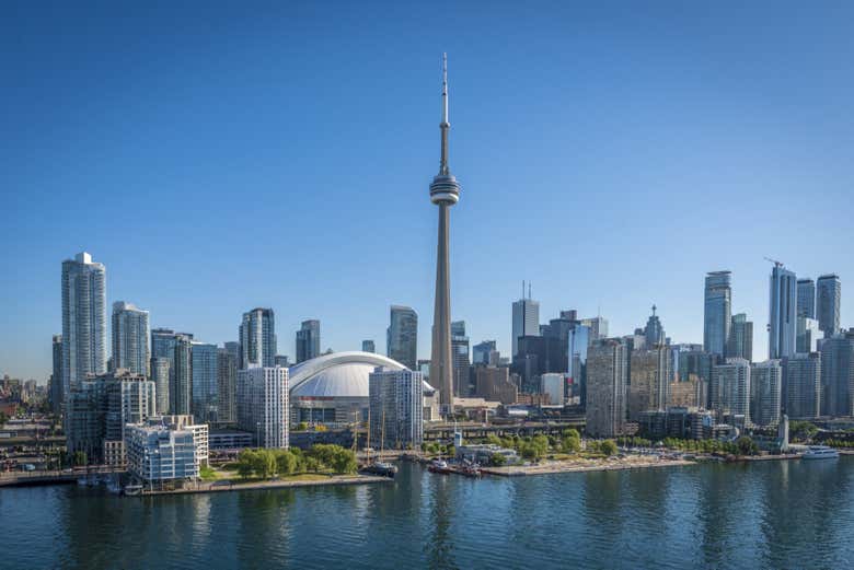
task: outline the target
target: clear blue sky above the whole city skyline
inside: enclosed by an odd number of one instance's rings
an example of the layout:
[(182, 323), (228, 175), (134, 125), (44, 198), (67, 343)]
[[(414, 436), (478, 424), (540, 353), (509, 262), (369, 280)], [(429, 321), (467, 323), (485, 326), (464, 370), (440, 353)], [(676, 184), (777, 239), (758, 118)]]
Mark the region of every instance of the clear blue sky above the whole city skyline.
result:
[(49, 374), (82, 249), (152, 326), (222, 342), (272, 306), (281, 353), (310, 317), (382, 351), (400, 303), (429, 358), (441, 51), (473, 344), (509, 352), (522, 279), (543, 322), (656, 303), (701, 341), (730, 269), (761, 358), (764, 255), (840, 274), (854, 325), (851, 4), (37, 4), (0, 18), (0, 373)]

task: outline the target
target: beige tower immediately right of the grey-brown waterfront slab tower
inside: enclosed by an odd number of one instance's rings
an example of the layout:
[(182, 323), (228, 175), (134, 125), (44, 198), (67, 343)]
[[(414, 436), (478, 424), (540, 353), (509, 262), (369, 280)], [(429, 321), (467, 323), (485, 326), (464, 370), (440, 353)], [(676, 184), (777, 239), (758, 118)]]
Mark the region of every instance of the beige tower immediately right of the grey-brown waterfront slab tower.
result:
[(637, 421), (642, 411), (663, 410), (670, 399), (670, 351), (662, 345), (650, 350), (634, 350), (628, 359), (628, 420)]

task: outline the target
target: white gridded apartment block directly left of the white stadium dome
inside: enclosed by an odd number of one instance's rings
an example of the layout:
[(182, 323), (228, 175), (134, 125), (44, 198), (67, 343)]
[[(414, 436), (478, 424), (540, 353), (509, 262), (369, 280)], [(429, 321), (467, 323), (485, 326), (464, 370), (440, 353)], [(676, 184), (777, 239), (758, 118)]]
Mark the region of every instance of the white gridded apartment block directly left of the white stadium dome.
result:
[(238, 427), (255, 435), (258, 447), (287, 447), (288, 369), (253, 367), (238, 372)]

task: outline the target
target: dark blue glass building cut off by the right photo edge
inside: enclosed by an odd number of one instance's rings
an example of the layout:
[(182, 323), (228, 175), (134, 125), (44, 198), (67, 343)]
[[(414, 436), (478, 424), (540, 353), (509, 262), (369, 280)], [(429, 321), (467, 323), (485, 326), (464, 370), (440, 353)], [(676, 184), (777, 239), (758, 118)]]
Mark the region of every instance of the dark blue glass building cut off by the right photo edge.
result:
[(854, 328), (821, 342), (821, 415), (854, 416)]

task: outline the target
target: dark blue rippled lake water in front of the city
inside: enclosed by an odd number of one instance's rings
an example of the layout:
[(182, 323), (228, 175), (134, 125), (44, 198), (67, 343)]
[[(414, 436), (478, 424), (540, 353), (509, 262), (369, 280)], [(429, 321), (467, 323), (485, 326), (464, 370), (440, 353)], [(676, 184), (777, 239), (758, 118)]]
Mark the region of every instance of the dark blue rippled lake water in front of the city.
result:
[(119, 498), (0, 490), (0, 568), (854, 568), (854, 456)]

